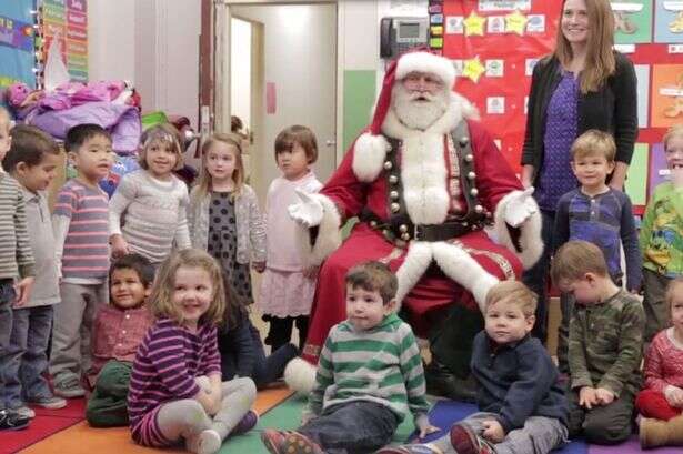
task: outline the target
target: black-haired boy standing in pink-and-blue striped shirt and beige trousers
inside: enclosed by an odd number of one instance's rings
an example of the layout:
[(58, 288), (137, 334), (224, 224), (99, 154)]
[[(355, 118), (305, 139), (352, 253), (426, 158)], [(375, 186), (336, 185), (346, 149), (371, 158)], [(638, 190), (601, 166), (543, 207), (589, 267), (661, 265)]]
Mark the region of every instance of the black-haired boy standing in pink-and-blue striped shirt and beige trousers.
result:
[(113, 163), (109, 132), (79, 124), (67, 132), (64, 147), (77, 176), (59, 191), (52, 228), (60, 271), (61, 303), (54, 309), (50, 375), (54, 394), (86, 394), (81, 375), (90, 369), (90, 333), (109, 290), (109, 199), (99, 186)]

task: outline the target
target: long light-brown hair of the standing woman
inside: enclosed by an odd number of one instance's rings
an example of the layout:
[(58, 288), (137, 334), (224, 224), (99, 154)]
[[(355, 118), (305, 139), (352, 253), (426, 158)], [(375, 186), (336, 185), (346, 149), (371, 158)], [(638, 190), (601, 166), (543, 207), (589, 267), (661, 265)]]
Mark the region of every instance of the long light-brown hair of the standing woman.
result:
[[(555, 39), (555, 57), (563, 67), (569, 67), (572, 59), (572, 47), (562, 33), (562, 16), (564, 3), (560, 12), (558, 37)], [(614, 14), (607, 0), (585, 0), (589, 16), (589, 39), (586, 42), (587, 53), (585, 68), (581, 71), (580, 84), (583, 94), (589, 91), (597, 91), (616, 70), (614, 59)]]

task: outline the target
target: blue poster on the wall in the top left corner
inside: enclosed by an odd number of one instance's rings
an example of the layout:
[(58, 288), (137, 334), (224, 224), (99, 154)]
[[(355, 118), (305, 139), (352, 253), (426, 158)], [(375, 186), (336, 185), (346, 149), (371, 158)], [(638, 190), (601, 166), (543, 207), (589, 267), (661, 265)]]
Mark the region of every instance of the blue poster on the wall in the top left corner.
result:
[(32, 0), (0, 2), (0, 88), (14, 82), (36, 85)]

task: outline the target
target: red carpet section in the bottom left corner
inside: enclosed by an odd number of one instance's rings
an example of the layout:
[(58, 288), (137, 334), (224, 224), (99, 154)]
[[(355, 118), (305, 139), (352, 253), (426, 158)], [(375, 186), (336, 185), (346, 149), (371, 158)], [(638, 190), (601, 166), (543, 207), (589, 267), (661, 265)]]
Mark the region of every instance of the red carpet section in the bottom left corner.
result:
[(0, 433), (0, 454), (16, 453), (83, 421), (86, 401), (71, 398), (68, 402), (68, 405), (60, 410), (33, 407), (36, 417), (28, 428)]

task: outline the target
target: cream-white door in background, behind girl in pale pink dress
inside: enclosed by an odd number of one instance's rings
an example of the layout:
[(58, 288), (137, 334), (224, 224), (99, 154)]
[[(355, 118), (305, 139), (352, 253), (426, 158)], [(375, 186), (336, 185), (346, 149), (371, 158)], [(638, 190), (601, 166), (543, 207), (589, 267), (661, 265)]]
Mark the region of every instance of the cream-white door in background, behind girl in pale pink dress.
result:
[[(279, 175), (275, 138), (292, 124), (315, 133), (319, 158), (313, 168), (324, 182), (335, 168), (337, 4), (231, 4), (230, 14), (252, 24), (253, 49), (233, 51), (230, 58), (232, 74), (251, 72), (249, 78), (231, 78), (250, 81), (244, 88), (250, 93), (231, 85), (231, 110), (249, 112), (252, 186), (263, 201)], [(250, 57), (241, 62), (239, 56), (245, 53)]]

